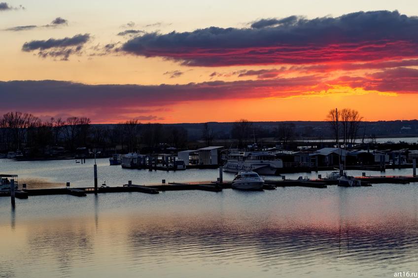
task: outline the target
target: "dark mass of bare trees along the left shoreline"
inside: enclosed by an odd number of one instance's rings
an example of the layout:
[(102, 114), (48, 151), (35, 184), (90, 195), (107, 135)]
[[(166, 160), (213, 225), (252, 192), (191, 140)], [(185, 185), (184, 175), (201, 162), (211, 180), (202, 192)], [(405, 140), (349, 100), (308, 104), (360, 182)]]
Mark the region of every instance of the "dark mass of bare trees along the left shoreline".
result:
[(0, 151), (22, 151), (27, 156), (45, 156), (55, 147), (74, 153), (77, 148), (121, 146), (122, 152), (139, 148), (152, 150), (168, 144), (184, 148), (187, 130), (163, 124), (141, 124), (131, 120), (115, 125), (92, 125), (85, 117), (51, 118), (42, 121), (22, 112), (8, 112), (0, 118)]

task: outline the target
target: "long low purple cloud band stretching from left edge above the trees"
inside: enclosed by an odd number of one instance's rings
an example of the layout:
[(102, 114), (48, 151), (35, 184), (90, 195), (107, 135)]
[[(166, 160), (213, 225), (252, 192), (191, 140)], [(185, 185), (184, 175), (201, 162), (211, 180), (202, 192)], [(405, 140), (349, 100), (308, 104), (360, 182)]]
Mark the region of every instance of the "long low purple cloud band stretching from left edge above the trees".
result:
[(8, 111), (47, 114), (48, 111), (69, 113), (74, 110), (105, 109), (111, 118), (112, 113), (121, 113), (120, 108), (143, 109), (198, 100), (285, 97), (304, 92), (319, 81), (315, 76), (155, 86), (86, 85), (52, 80), (9, 81), (0, 82), (0, 98), (1, 107)]

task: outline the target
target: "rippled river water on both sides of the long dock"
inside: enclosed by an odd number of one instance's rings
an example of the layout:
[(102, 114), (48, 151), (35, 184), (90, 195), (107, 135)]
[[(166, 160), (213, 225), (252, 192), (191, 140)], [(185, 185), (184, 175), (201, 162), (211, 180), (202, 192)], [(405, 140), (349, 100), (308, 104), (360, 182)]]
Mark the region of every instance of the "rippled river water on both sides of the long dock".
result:
[[(86, 162), (0, 165), (36, 186), (91, 186)], [(98, 164), (108, 185), (219, 173)], [(418, 272), (418, 184), (30, 196), (14, 210), (1, 197), (0, 247), (0, 277), (393, 277)]]

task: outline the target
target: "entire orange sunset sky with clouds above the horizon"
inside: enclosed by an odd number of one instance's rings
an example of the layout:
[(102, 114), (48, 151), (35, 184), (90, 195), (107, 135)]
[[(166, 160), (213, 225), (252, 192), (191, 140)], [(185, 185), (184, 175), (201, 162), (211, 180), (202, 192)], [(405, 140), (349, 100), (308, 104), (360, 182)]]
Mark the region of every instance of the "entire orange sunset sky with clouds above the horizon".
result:
[(0, 114), (418, 118), (415, 0), (0, 0)]

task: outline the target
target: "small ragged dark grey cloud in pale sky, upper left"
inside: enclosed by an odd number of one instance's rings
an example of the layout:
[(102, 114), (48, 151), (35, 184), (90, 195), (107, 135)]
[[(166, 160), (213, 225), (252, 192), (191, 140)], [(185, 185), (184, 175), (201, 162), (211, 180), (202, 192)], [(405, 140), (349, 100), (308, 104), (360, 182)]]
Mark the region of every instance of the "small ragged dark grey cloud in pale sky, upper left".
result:
[(50, 56), (61, 58), (61, 60), (68, 60), (70, 55), (80, 53), (84, 44), (89, 39), (90, 34), (77, 34), (73, 37), (65, 37), (62, 39), (32, 40), (23, 44), (22, 51), (39, 51), (38, 55), (43, 58)]

